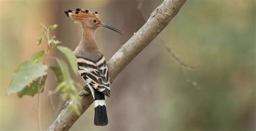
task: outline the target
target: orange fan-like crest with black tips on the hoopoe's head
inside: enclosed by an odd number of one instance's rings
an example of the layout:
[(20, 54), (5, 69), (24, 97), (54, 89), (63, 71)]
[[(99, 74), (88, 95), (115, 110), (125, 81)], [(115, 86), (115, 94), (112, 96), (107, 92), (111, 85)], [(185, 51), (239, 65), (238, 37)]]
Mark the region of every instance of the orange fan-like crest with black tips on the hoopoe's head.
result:
[(97, 11), (93, 13), (89, 10), (84, 10), (84, 9), (77, 8), (75, 11), (73, 11), (73, 10), (65, 11), (65, 14), (69, 18), (71, 18), (73, 20), (76, 20), (76, 21), (81, 21), (84, 18), (95, 18), (95, 19), (97, 19), (97, 21), (101, 21)]

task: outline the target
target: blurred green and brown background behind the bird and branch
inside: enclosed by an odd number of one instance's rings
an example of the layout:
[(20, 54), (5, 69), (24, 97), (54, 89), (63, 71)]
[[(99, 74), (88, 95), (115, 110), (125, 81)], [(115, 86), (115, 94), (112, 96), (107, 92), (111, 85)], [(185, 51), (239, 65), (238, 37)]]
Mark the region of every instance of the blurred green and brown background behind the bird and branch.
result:
[[(99, 12), (104, 23), (123, 32), (97, 31), (98, 46), (108, 60), (161, 2), (0, 0), (0, 130), (37, 129), (36, 96), (6, 96), (6, 88), (18, 64), (45, 48), (36, 46), (39, 23), (58, 24), (53, 34), (62, 45), (75, 49), (81, 29), (64, 11)], [(109, 125), (94, 126), (90, 107), (70, 130), (255, 130), (255, 13), (253, 0), (187, 1), (159, 37), (114, 80), (107, 99)], [(181, 60), (199, 68), (185, 69), (184, 75), (163, 41)], [(52, 59), (50, 64), (56, 62)], [(46, 90), (55, 88), (52, 79), (48, 77)], [(83, 83), (79, 77), (76, 80)], [(55, 108), (63, 103), (58, 94), (52, 98)], [(46, 130), (58, 111), (52, 110), (47, 92), (42, 99)]]

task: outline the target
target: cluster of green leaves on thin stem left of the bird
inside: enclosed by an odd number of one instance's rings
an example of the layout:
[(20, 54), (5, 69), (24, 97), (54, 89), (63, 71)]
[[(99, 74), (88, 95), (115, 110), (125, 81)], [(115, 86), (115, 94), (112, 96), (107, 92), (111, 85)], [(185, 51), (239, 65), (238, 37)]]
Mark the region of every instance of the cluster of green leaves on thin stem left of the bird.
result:
[[(38, 92), (44, 92), (44, 85), (46, 82), (46, 78), (48, 77), (48, 74), (46, 74), (46, 70), (49, 68), (48, 65), (46, 65), (47, 57), (49, 52), (56, 47), (66, 56), (73, 72), (77, 75), (77, 59), (76, 56), (73, 54), (72, 50), (67, 47), (57, 46), (61, 42), (59, 40), (56, 40), (56, 37), (54, 35), (49, 35), (49, 31), (55, 30), (57, 27), (57, 24), (51, 25), (49, 27), (41, 24), (42, 29), (37, 40), (37, 45), (42, 45), (42, 41), (45, 37), (48, 43), (47, 52), (45, 52), (45, 50), (41, 50), (34, 53), (29, 57), (29, 60), (24, 61), (18, 67), (9, 85), (8, 94), (17, 93), (17, 96), (19, 98), (22, 98), (25, 95), (34, 96)], [(45, 60), (42, 63), (41, 59), (44, 56)], [(62, 98), (62, 100), (79, 100), (80, 97), (78, 96), (78, 89), (76, 85), (80, 86), (80, 84), (73, 82), (69, 73), (68, 65), (65, 61), (57, 57), (56, 61), (59, 67), (50, 66), (50, 69), (53, 71), (53, 75), (57, 83), (57, 87), (55, 91), (53, 91), (53, 93), (60, 92), (60, 97)], [(40, 91), (38, 91), (38, 89)], [(79, 103), (72, 104), (72, 106), (69, 105), (68, 108), (76, 112), (78, 115), (80, 114)]]

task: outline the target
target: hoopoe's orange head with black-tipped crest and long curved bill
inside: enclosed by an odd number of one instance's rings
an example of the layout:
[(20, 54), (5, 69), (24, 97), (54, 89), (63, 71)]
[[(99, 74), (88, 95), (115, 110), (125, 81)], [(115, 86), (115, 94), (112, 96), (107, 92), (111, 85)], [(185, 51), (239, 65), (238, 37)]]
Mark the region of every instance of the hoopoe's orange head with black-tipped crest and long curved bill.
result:
[(122, 34), (117, 28), (109, 26), (102, 23), (102, 20), (99, 18), (98, 12), (91, 12), (89, 10), (76, 9), (75, 11), (67, 10), (65, 11), (66, 16), (75, 20), (77, 23), (82, 24), (83, 27), (90, 28), (92, 30), (97, 30), (98, 27), (106, 27), (113, 31), (116, 31), (119, 34)]

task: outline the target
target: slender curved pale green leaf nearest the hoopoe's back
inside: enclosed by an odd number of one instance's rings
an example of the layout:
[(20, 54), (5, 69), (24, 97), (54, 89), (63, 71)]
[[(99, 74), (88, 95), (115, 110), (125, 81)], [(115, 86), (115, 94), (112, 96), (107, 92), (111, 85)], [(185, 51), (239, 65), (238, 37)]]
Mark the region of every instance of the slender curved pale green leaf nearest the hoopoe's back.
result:
[(57, 46), (57, 48), (68, 58), (73, 72), (77, 75), (78, 66), (75, 54), (68, 47)]

